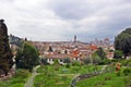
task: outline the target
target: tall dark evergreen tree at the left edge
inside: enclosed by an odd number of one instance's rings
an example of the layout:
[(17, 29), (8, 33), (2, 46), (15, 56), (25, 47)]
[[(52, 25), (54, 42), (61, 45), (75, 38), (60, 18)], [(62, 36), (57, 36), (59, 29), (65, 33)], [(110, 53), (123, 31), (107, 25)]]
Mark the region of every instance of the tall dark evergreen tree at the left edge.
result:
[(0, 73), (8, 75), (13, 65), (13, 55), (9, 46), (8, 28), (3, 22), (4, 20), (0, 20)]

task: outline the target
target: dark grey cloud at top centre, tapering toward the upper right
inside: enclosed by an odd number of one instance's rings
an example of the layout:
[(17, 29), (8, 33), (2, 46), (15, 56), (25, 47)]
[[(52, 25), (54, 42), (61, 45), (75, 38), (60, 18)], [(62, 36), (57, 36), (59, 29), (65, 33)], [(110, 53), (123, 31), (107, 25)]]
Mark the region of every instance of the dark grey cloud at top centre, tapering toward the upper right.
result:
[(122, 0), (49, 0), (49, 8), (55, 11), (55, 13), (64, 20), (81, 20), (90, 17), (106, 8), (111, 8), (119, 4), (127, 3)]

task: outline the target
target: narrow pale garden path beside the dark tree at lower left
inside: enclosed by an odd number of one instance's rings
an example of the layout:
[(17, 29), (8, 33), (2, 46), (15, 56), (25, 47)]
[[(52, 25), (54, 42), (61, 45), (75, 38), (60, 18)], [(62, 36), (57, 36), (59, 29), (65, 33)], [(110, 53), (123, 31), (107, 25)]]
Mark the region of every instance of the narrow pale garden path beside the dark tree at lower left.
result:
[(35, 78), (36, 75), (38, 75), (38, 73), (36, 72), (37, 69), (39, 67), (40, 65), (37, 65), (36, 67), (34, 67), (33, 70), (33, 73), (32, 73), (32, 76), (28, 78), (28, 80), (25, 83), (24, 87), (33, 87), (33, 80)]

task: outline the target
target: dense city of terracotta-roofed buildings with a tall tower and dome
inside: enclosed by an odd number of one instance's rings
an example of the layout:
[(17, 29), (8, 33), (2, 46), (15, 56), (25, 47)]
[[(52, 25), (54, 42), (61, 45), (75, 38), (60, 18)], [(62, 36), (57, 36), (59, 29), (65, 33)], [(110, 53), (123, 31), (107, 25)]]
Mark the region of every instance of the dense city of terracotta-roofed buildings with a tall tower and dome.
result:
[(110, 45), (108, 38), (104, 40), (95, 39), (95, 41), (87, 44), (78, 41), (76, 36), (74, 36), (73, 41), (33, 41), (33, 44), (39, 50), (39, 57), (48, 59), (47, 62), (50, 64), (53, 64), (56, 59), (60, 64), (63, 64), (63, 60), (67, 58), (71, 61), (83, 61), (92, 57), (92, 53), (99, 47), (105, 50), (108, 59), (114, 57), (114, 46)]

